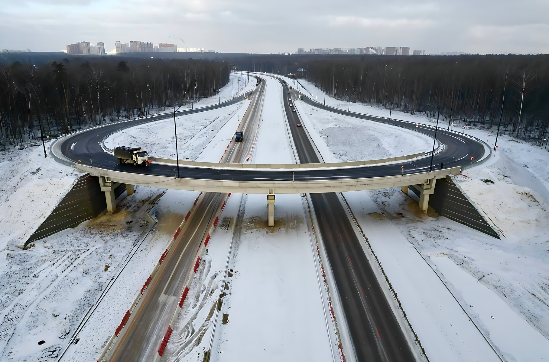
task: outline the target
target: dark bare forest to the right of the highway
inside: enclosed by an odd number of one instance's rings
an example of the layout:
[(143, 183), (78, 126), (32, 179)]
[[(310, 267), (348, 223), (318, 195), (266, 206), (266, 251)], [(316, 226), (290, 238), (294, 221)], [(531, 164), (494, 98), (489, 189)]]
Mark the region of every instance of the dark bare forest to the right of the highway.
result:
[(434, 107), (444, 122), (501, 125), (539, 145), (548, 138), (549, 55), (272, 55), (235, 62), (306, 78), (339, 100), (436, 119)]

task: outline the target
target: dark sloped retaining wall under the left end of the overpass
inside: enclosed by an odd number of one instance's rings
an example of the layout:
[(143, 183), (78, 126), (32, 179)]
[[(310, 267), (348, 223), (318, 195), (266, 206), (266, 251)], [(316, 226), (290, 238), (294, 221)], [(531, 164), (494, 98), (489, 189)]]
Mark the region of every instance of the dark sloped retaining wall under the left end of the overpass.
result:
[[(125, 184), (116, 187), (116, 197), (124, 193), (125, 189)], [(106, 208), (105, 193), (100, 189), (98, 177), (86, 173), (80, 176), (57, 207), (42, 222), (42, 225), (25, 242), (24, 247), (26, 248), (35, 240), (43, 239), (66, 228), (76, 227), (83, 221), (93, 219)]]

